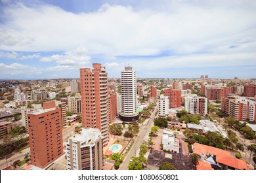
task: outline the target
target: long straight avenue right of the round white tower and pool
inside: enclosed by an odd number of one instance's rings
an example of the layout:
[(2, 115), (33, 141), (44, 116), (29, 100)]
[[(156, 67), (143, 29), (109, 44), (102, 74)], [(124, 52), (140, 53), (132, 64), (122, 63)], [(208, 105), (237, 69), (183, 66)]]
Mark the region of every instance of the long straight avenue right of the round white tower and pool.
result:
[(155, 107), (155, 110), (152, 113), (151, 117), (145, 120), (144, 125), (140, 126), (140, 132), (137, 138), (135, 139), (135, 142), (131, 147), (131, 150), (128, 152), (127, 156), (125, 156), (123, 163), (121, 163), (119, 170), (127, 170), (131, 157), (138, 156), (140, 151), (140, 145), (142, 144), (143, 141), (146, 141), (148, 139), (151, 127), (154, 125), (153, 119), (156, 113), (156, 108), (157, 106)]

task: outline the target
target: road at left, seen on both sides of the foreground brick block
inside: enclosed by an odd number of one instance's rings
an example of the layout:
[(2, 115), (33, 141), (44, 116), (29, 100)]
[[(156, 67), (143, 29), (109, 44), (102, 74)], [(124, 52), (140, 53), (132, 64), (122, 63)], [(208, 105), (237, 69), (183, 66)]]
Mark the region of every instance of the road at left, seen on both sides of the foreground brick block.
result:
[[(81, 126), (81, 124), (75, 124), (77, 126)], [(74, 134), (75, 125), (72, 125), (64, 130), (64, 133), (62, 133), (62, 139), (63, 143), (66, 141), (68, 137)], [(11, 158), (3, 159), (0, 161), (0, 169), (4, 169), (5, 167), (9, 166), (14, 161), (20, 159), (22, 161), (24, 159), (24, 152), (30, 151), (30, 148), (26, 148), (22, 150), (21, 152), (16, 152)]]

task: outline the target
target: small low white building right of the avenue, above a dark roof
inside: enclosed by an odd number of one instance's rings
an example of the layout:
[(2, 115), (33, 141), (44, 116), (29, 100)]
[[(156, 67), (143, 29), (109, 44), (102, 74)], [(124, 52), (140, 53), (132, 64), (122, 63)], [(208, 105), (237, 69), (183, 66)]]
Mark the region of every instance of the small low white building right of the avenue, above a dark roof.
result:
[(179, 139), (175, 138), (172, 131), (163, 130), (163, 150), (179, 153)]

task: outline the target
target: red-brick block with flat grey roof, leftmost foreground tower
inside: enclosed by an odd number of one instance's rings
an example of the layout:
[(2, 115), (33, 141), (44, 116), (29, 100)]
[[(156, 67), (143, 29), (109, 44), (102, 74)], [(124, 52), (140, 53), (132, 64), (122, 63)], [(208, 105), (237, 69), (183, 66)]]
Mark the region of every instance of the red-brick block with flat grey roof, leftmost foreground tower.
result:
[(61, 109), (54, 101), (28, 113), (28, 131), (32, 165), (44, 168), (62, 156)]

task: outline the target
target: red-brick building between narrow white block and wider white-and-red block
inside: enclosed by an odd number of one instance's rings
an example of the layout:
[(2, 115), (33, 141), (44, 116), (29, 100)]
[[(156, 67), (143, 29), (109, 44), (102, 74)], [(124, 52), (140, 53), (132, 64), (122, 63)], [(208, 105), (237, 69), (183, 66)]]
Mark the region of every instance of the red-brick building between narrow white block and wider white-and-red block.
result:
[(168, 88), (164, 91), (164, 95), (169, 99), (169, 108), (181, 108), (181, 90)]

